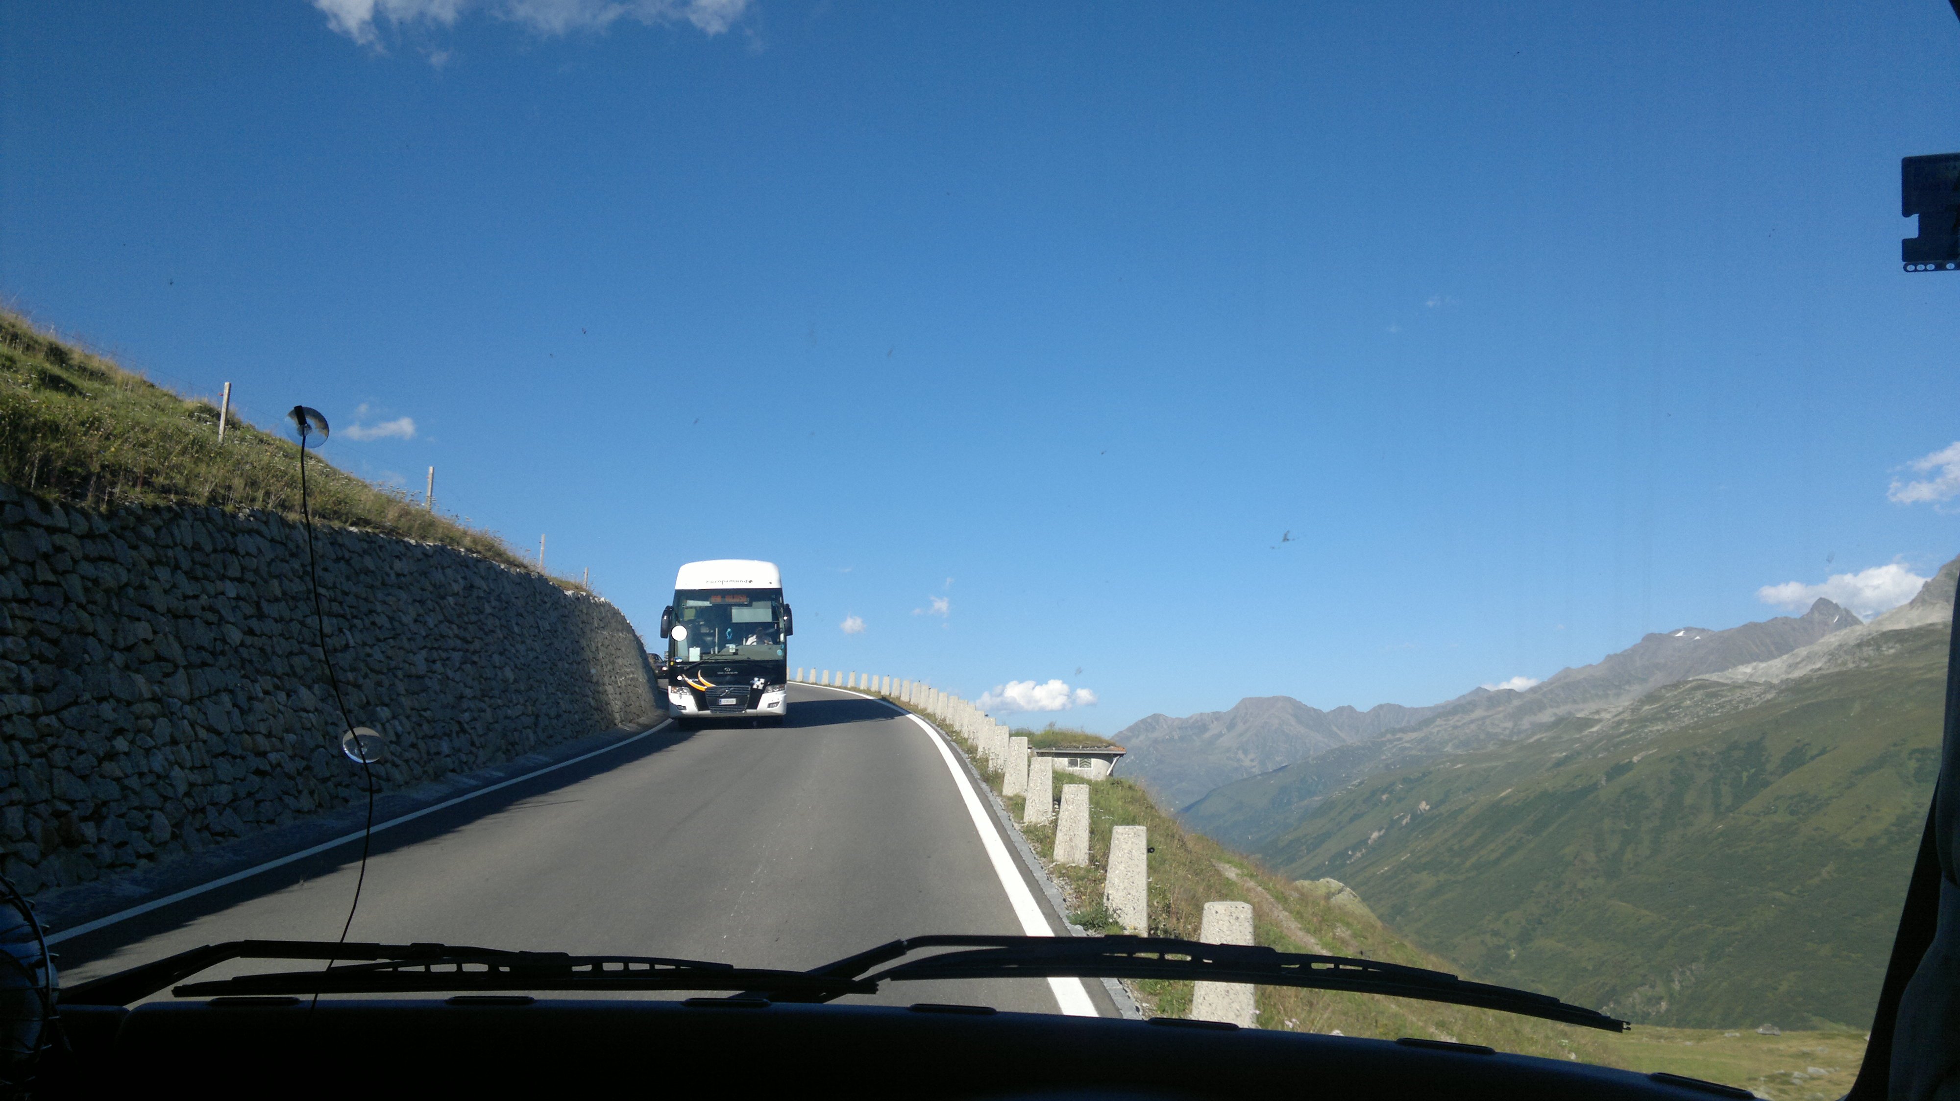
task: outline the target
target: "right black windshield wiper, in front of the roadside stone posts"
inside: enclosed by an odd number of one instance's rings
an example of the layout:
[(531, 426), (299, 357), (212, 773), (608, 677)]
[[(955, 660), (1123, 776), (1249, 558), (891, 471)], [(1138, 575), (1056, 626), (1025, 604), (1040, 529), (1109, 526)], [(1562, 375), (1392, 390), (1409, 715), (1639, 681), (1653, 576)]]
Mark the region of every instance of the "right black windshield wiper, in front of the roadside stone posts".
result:
[[(882, 972), (874, 968), (921, 948), (966, 948), (907, 960)], [(1309, 956), (1239, 944), (1200, 944), (1166, 936), (913, 936), (892, 940), (868, 952), (837, 960), (809, 972), (864, 981), (980, 980), (980, 978), (1113, 978), (1113, 980), (1207, 980), (1309, 989), (1345, 989), (1386, 997), (1417, 997), (1448, 1005), (1472, 1005), (1625, 1032), (1629, 1025), (1605, 1013), (1558, 1001), (1544, 993), (1466, 981), (1446, 972), (1354, 960), (1348, 956)], [(776, 1001), (829, 1001), (755, 987)]]

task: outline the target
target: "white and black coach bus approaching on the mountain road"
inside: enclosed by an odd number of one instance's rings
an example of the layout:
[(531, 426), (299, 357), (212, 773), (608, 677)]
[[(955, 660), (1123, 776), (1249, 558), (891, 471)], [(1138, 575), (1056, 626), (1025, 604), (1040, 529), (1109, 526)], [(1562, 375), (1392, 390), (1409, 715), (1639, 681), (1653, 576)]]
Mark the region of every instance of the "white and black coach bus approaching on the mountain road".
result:
[(684, 727), (719, 717), (780, 727), (790, 713), (792, 631), (774, 562), (688, 562), (661, 613), (666, 713)]

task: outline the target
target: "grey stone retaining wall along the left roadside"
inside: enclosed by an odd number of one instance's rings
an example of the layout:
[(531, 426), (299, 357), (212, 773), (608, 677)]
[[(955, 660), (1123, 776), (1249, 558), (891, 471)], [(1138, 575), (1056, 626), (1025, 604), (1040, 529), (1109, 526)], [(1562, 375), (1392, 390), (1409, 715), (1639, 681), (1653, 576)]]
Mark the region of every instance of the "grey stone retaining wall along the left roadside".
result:
[[(604, 599), (449, 547), (319, 527), (327, 646), (388, 790), (655, 719)], [(339, 752), (306, 531), (98, 515), (0, 484), (0, 870), (27, 893), (365, 799)]]

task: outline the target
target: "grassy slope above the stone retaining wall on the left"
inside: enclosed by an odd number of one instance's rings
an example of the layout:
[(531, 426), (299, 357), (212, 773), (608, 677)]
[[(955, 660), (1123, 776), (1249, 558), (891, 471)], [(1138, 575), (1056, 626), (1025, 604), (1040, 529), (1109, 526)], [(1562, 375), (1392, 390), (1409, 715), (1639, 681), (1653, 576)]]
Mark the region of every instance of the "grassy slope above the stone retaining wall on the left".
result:
[[(0, 311), (0, 482), (86, 507), (216, 505), (300, 513), (294, 443), (182, 398)], [(333, 468), (308, 462), (314, 517), (459, 547), (529, 568), (474, 531)], [(568, 582), (561, 582), (568, 584)]]

